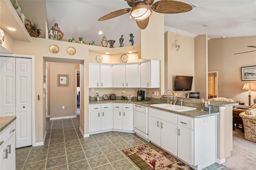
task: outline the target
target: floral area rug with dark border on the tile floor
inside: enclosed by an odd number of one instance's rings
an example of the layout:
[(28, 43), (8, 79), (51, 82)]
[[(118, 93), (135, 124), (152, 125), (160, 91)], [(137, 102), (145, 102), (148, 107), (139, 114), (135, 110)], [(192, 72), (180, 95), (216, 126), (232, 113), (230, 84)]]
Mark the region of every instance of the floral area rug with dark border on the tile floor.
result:
[(122, 150), (141, 170), (193, 170), (152, 143)]

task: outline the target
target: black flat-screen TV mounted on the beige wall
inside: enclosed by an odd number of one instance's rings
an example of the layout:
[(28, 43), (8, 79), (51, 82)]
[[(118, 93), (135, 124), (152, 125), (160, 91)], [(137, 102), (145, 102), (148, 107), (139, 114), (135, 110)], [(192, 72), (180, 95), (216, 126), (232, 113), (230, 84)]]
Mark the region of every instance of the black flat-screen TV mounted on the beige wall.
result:
[(174, 91), (191, 91), (193, 76), (176, 75)]

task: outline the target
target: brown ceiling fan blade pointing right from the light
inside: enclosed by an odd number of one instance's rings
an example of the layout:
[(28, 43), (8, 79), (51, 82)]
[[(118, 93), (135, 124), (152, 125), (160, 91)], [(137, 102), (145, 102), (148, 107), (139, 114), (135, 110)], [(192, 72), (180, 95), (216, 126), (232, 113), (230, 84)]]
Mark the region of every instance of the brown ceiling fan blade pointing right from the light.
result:
[(160, 0), (151, 5), (152, 10), (162, 14), (178, 14), (192, 10), (192, 6), (175, 0)]

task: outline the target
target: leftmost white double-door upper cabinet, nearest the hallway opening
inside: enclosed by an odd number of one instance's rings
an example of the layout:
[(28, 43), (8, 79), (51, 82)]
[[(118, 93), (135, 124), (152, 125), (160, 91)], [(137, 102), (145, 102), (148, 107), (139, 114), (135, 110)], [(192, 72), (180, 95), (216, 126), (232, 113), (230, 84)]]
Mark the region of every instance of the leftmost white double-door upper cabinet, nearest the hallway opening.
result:
[(89, 63), (89, 88), (112, 87), (112, 65)]

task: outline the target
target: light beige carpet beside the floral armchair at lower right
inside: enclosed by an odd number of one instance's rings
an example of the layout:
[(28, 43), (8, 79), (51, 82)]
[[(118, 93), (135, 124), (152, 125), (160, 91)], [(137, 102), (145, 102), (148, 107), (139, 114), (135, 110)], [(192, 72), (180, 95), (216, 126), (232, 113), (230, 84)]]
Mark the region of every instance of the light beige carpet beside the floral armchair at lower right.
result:
[(233, 130), (233, 150), (222, 165), (230, 170), (256, 170), (256, 143), (244, 139), (240, 129)]

